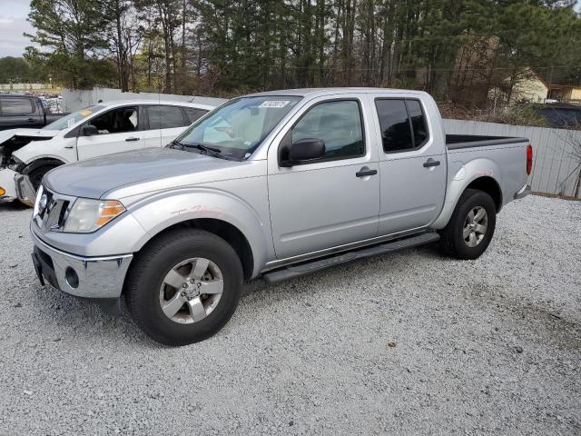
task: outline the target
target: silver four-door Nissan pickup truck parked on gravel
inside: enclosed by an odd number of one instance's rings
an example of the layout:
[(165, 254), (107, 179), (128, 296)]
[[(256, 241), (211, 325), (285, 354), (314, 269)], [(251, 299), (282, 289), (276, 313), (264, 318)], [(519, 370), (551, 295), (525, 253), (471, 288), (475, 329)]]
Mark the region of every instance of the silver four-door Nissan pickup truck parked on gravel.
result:
[(202, 341), (242, 282), (299, 277), (439, 242), (476, 259), (497, 213), (529, 192), (525, 138), (447, 136), (417, 91), (329, 88), (236, 98), (168, 147), (44, 176), (34, 266), (118, 308), (155, 341)]

